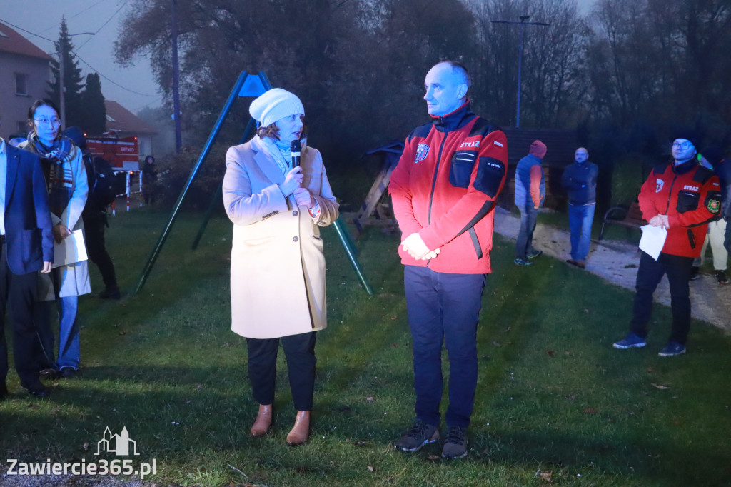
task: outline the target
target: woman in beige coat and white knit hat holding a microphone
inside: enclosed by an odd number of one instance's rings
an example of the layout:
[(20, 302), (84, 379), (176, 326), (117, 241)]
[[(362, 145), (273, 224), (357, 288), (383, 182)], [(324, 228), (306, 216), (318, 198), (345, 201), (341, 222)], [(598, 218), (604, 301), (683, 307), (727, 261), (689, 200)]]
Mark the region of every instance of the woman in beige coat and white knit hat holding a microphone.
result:
[(309, 434), (315, 376), (315, 336), (325, 328), (325, 255), (319, 227), (338, 218), (322, 156), (305, 144), (300, 166), (289, 150), (300, 140), (305, 110), (289, 91), (273, 88), (251, 102), (260, 122), (249, 142), (229, 148), (224, 205), (233, 222), (231, 328), (246, 337), (249, 379), (260, 404), (251, 435), (272, 422), (276, 356), (287, 358), (295, 426), (287, 443)]

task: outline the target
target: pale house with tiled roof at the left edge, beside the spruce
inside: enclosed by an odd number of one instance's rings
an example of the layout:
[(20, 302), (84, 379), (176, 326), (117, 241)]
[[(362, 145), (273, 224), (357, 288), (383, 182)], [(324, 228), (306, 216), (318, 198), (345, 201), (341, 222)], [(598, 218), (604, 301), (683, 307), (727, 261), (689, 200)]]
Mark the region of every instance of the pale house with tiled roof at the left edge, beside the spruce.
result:
[(27, 134), (28, 109), (48, 96), (50, 56), (0, 23), (0, 137)]

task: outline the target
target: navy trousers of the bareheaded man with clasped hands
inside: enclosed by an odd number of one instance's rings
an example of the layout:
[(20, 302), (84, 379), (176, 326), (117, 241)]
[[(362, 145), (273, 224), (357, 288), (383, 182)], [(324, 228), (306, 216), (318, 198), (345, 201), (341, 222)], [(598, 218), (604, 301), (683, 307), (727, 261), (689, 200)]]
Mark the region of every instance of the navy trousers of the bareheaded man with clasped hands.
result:
[(406, 265), (406, 307), (414, 342), (416, 417), (439, 426), (442, 343), (450, 362), (447, 426), (469, 426), (477, 388), (477, 321), (485, 274), (452, 274)]

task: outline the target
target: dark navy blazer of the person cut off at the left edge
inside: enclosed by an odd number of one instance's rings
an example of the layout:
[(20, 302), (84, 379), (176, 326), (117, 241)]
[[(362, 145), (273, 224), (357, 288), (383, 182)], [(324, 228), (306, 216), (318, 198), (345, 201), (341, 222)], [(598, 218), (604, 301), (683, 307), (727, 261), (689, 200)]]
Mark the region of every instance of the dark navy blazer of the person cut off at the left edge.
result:
[(48, 191), (38, 156), (5, 143), (5, 242), (7, 265), (16, 275), (53, 262)]

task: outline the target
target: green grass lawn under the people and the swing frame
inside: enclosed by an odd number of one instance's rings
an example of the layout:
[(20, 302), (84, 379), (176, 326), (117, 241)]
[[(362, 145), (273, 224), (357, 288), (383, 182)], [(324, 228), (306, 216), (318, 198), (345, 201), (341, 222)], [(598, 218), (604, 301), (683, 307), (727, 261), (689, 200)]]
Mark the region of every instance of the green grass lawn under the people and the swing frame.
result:
[[(694, 322), (689, 353), (660, 358), (670, 310), (656, 306), (648, 347), (614, 350), (632, 292), (548, 257), (517, 268), (498, 235), (469, 458), (393, 449), (413, 415), (411, 347), (398, 238), (376, 228), (357, 241), (373, 297), (324, 232), (329, 327), (311, 440), (285, 445), (294, 410), (281, 358), (273, 433), (249, 437), (257, 404), (245, 341), (230, 331), (231, 225), (213, 219), (192, 251), (201, 219), (178, 219), (139, 295), (80, 299), (79, 378), (49, 382), (39, 401), (11, 371), (0, 464), (111, 460), (96, 444), (126, 426), (135, 463), (154, 458), (161, 486), (731, 486), (731, 336)], [(111, 219), (107, 246), (128, 293), (166, 221), (148, 208)]]

